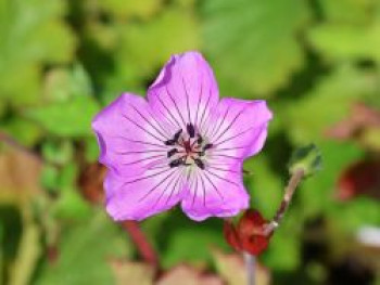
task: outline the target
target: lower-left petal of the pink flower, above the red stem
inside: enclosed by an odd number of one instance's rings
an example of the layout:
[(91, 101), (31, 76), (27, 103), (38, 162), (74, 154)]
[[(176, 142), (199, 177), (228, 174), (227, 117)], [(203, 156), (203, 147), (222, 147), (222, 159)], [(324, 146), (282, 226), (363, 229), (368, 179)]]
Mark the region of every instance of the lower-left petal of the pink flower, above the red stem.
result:
[(183, 186), (180, 168), (155, 167), (129, 178), (109, 171), (104, 181), (106, 211), (117, 221), (142, 220), (175, 206)]

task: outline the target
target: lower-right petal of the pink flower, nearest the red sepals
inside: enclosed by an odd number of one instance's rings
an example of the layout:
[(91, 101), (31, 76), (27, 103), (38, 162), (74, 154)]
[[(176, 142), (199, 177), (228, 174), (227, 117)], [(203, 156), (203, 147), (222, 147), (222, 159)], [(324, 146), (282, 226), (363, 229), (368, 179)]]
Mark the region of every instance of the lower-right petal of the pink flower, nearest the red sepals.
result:
[(212, 166), (191, 177), (181, 203), (189, 218), (202, 221), (208, 217), (232, 217), (249, 207), (250, 196), (242, 182), (241, 164)]

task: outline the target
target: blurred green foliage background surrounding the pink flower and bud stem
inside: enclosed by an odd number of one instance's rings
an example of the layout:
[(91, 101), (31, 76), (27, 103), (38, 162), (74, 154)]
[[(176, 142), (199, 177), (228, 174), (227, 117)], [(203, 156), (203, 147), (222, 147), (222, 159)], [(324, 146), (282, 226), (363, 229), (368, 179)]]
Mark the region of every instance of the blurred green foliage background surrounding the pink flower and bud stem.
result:
[[(379, 0), (0, 0), (0, 284), (151, 284), (104, 215), (90, 121), (124, 91), (143, 95), (187, 50), (210, 61), (221, 96), (274, 111), (244, 167), (266, 218), (292, 150), (321, 150), (322, 171), (259, 257), (271, 284), (380, 284), (380, 236), (363, 242), (380, 226)], [(142, 228), (164, 269), (186, 262), (239, 284), (220, 220), (177, 209)]]

